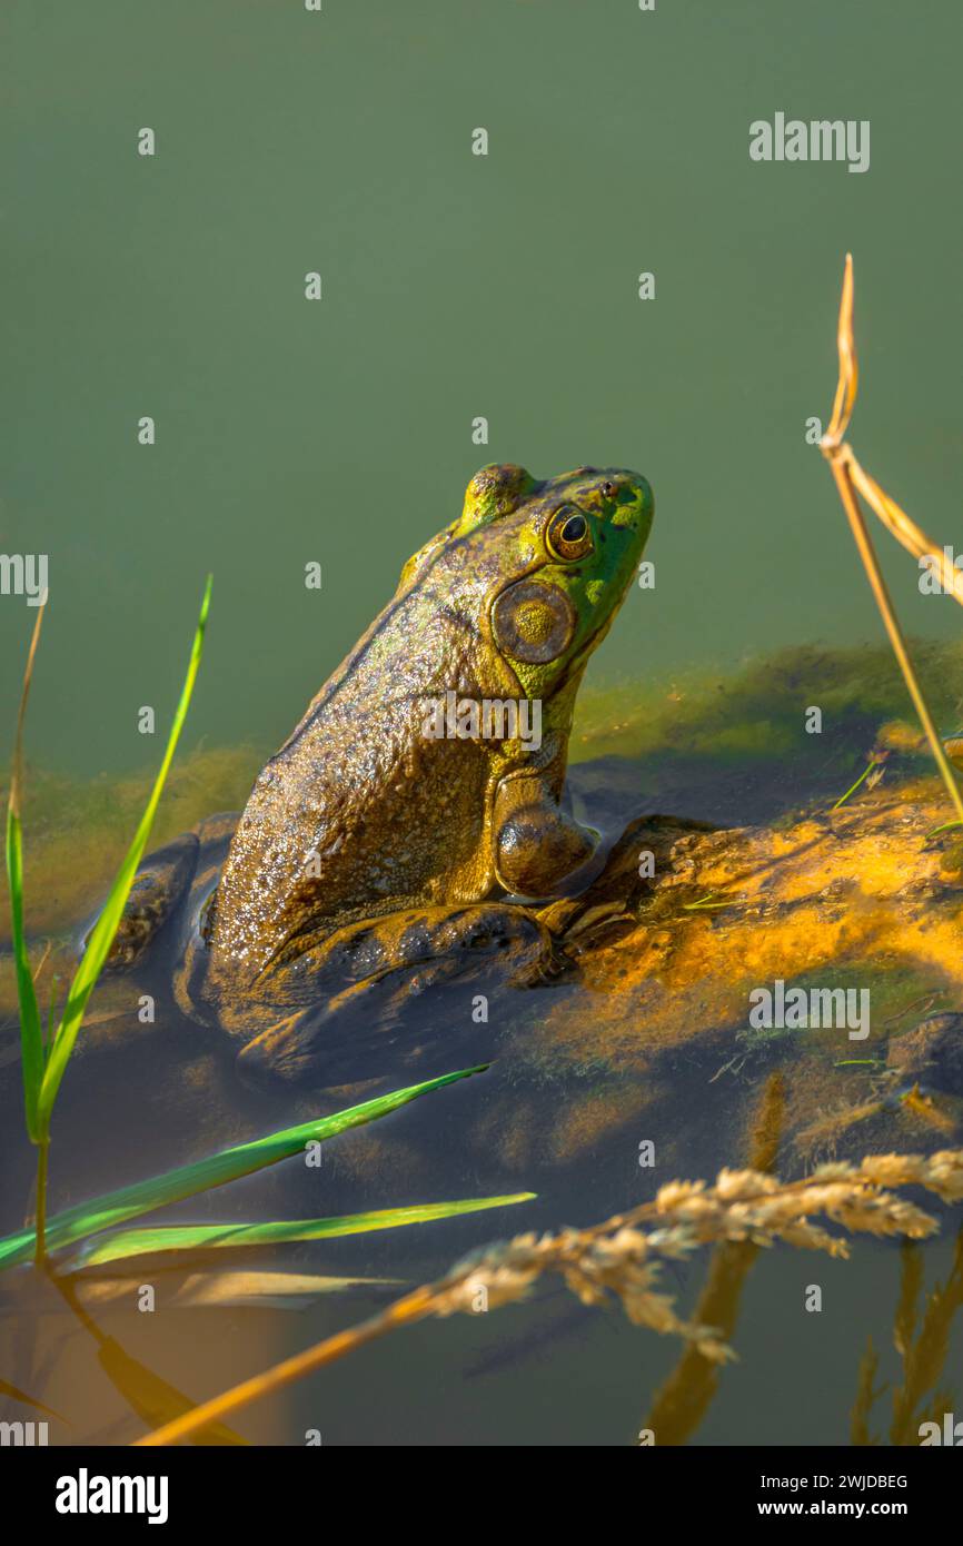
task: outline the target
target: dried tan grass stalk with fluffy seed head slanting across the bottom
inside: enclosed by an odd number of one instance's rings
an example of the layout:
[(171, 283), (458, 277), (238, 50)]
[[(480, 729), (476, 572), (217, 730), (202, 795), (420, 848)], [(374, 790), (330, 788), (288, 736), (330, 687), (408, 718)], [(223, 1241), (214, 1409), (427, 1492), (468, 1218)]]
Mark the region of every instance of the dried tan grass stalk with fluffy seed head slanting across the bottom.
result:
[(869, 1155), (858, 1166), (824, 1164), (790, 1183), (761, 1170), (720, 1170), (714, 1186), (669, 1181), (652, 1203), (617, 1214), (592, 1229), (563, 1229), (541, 1237), (526, 1234), (485, 1246), (382, 1314), (235, 1385), (138, 1444), (176, 1444), (400, 1325), (475, 1311), (479, 1305), (496, 1309), (515, 1303), (550, 1272), (584, 1303), (601, 1305), (611, 1296), (637, 1325), (680, 1336), (705, 1357), (722, 1362), (734, 1354), (717, 1331), (680, 1319), (672, 1296), (658, 1291), (662, 1260), (723, 1240), (750, 1240), (762, 1246), (782, 1240), (830, 1255), (849, 1255), (844, 1238), (812, 1221), (816, 1215), (852, 1234), (910, 1240), (935, 1234), (935, 1218), (893, 1194), (893, 1187), (901, 1186), (921, 1186), (944, 1203), (963, 1200), (963, 1150), (946, 1149), (929, 1158)]

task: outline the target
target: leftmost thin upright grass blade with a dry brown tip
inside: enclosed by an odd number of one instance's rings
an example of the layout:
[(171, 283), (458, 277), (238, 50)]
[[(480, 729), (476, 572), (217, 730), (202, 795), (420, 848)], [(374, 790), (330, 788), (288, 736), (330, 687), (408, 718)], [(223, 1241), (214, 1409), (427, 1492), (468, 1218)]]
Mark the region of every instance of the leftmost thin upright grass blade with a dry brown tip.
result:
[(26, 700), (34, 676), (34, 657), (40, 640), (40, 625), (46, 603), (37, 612), (34, 632), (23, 671), (20, 708), (17, 711), (17, 734), (14, 737), (14, 761), (6, 804), (6, 884), (11, 903), (11, 938), (17, 972), (17, 999), (20, 1003), (20, 1078), (23, 1084), (23, 1115), (31, 1142), (40, 1141), (40, 1088), (43, 1084), (43, 1028), (34, 988), (34, 974), (23, 931), (23, 829), (20, 819), (20, 795), (23, 788), (23, 720)]

